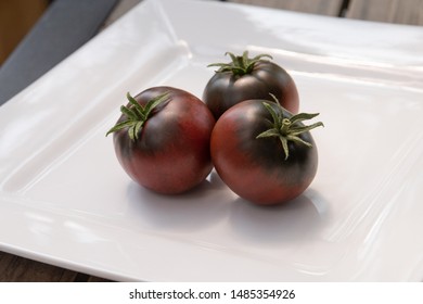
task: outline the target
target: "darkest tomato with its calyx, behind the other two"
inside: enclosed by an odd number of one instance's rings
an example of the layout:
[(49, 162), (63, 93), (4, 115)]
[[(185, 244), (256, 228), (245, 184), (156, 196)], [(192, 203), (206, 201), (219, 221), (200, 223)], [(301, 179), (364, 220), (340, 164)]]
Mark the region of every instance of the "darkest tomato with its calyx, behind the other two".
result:
[(268, 54), (253, 59), (245, 51), (242, 56), (228, 52), (230, 63), (215, 63), (215, 75), (208, 80), (203, 101), (210, 109), (216, 119), (236, 103), (248, 99), (271, 100), (273, 94), (281, 105), (292, 113), (299, 109), (299, 97), (294, 79), (278, 64), (265, 60)]

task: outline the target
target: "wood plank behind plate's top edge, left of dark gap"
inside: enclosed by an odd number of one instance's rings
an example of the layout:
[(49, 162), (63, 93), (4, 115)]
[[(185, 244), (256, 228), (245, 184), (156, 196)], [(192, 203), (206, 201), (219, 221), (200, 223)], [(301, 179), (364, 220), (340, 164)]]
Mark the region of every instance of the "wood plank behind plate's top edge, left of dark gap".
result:
[(342, 8), (342, 0), (229, 0), (243, 4), (253, 4), (303, 13), (337, 16)]

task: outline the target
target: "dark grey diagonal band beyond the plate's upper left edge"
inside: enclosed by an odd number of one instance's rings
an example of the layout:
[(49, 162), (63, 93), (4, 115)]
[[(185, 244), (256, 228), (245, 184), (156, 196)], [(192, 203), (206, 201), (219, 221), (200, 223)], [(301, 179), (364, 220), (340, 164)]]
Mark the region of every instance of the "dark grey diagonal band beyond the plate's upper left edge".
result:
[(54, 0), (0, 67), (0, 105), (101, 28), (118, 0)]

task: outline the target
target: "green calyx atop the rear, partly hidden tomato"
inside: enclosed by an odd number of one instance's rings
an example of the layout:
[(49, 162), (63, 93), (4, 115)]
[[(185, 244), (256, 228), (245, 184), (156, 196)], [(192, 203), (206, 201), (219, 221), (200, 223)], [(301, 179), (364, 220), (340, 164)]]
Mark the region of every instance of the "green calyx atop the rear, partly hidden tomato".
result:
[(218, 66), (219, 69), (216, 71), (217, 73), (232, 72), (233, 75), (243, 76), (245, 74), (251, 74), (254, 69), (254, 65), (262, 60), (262, 58), (272, 59), (272, 56), (268, 54), (259, 54), (251, 59), (248, 58), (248, 51), (245, 51), (241, 56), (236, 56), (231, 52), (227, 52), (226, 55), (230, 55), (232, 62), (213, 63), (207, 66)]

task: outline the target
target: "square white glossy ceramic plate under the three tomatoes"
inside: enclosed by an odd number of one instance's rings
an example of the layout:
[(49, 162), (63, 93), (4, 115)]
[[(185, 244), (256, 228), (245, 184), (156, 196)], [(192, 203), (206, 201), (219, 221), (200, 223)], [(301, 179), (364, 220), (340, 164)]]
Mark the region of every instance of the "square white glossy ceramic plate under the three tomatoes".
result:
[[(0, 107), (0, 250), (115, 280), (423, 278), (423, 27), (146, 0)], [(119, 167), (125, 93), (201, 97), (226, 51), (266, 52), (299, 89), (320, 166), (257, 207), (211, 173), (163, 197)]]

